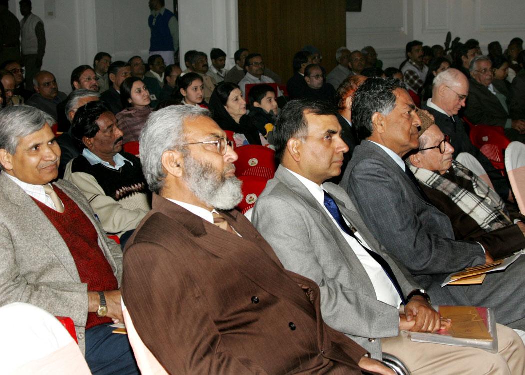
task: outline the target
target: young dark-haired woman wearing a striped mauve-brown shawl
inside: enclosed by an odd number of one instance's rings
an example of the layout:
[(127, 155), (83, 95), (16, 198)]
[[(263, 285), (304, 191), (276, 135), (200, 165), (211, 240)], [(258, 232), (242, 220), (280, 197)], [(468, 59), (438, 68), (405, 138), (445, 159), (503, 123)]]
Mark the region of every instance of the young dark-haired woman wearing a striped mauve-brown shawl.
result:
[(122, 82), (120, 101), (125, 109), (117, 113), (117, 120), (124, 133), (124, 143), (138, 142), (140, 132), (152, 112), (150, 92), (142, 79), (129, 77)]

